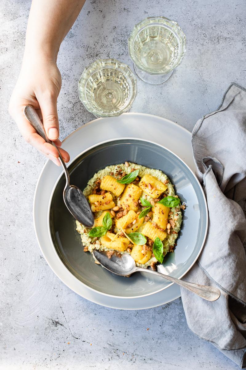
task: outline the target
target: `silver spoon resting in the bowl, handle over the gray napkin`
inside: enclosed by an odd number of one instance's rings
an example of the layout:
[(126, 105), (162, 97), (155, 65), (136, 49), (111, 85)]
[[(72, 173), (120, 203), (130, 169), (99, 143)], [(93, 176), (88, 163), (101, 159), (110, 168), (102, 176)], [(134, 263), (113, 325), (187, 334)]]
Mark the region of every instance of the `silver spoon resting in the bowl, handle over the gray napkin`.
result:
[(122, 254), (121, 257), (117, 257), (114, 253), (109, 259), (104, 252), (100, 252), (99, 250), (94, 249), (93, 255), (96, 260), (103, 267), (105, 267), (105, 269), (113, 272), (116, 275), (129, 276), (137, 271), (149, 272), (151, 274), (164, 277), (164, 279), (170, 280), (171, 282), (176, 283), (180, 286), (183, 286), (184, 288), (190, 290), (192, 293), (195, 293), (196, 295), (209, 301), (215, 301), (221, 295), (219, 289), (213, 288), (212, 286), (189, 283), (188, 281), (176, 279), (175, 277), (164, 275), (160, 272), (143, 269), (142, 267), (136, 267), (134, 259), (127, 253)]

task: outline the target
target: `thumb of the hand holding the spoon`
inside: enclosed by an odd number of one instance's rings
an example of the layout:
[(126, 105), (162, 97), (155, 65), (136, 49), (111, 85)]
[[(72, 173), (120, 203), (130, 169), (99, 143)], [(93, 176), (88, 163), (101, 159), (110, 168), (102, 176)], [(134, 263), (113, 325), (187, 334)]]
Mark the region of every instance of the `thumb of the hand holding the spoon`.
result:
[(50, 140), (59, 138), (59, 121), (57, 114), (57, 98), (49, 95), (48, 98), (39, 99), (39, 106), (43, 117), (46, 135)]

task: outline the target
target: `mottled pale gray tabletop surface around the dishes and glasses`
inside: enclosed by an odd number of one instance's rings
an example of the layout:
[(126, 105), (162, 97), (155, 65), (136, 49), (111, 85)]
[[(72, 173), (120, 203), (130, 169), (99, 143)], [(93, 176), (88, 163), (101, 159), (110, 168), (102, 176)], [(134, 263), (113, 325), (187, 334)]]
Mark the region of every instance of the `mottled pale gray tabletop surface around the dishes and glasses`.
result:
[[(32, 200), (45, 158), (23, 141), (6, 109), (29, 8), (30, 1), (1, 0), (0, 369), (237, 369), (190, 332), (181, 299), (134, 312), (100, 307), (63, 285), (41, 256)], [(138, 80), (131, 111), (166, 117), (191, 131), (215, 110), (231, 81), (246, 86), (244, 0), (87, 0), (58, 58), (60, 138), (94, 118), (77, 94), (83, 68), (98, 57), (132, 66), (127, 37), (135, 23), (153, 15), (179, 22), (187, 53), (165, 84)]]

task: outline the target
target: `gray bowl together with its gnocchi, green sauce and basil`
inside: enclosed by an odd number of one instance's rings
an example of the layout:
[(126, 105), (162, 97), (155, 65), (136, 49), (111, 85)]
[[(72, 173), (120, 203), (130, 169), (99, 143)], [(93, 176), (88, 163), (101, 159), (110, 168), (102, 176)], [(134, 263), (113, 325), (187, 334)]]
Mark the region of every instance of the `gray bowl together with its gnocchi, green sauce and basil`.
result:
[(152, 295), (170, 286), (158, 276), (129, 278), (110, 273), (94, 259), (128, 253), (137, 266), (177, 278), (193, 266), (205, 242), (208, 213), (201, 185), (173, 152), (154, 142), (122, 138), (95, 145), (69, 165), (94, 215), (86, 228), (67, 211), (60, 176), (49, 206), (49, 231), (56, 254), (82, 284), (122, 298)]

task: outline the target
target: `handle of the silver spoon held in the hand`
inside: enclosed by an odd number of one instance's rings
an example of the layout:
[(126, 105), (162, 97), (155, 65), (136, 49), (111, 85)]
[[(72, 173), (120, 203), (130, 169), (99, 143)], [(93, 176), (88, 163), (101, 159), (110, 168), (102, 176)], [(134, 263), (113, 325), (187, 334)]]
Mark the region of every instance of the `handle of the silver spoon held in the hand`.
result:
[[(53, 141), (48, 139), (48, 137), (45, 133), (45, 130), (44, 130), (44, 125), (42, 124), (40, 118), (38, 117), (38, 113), (36, 112), (36, 110), (31, 105), (26, 105), (25, 108), (24, 108), (24, 114), (25, 114), (25, 117), (27, 118), (27, 120), (32, 125), (32, 127), (34, 127), (35, 130), (39, 133), (39, 135), (42, 136), (42, 138), (45, 139), (46, 142), (48, 142), (49, 144), (52, 144), (59, 152), (58, 147), (53, 143)], [(64, 169), (64, 172), (65, 172), (66, 186), (67, 186), (69, 184), (69, 181), (70, 181), (69, 173), (67, 171), (67, 167), (65, 165), (65, 162), (64, 162), (60, 152), (59, 152), (59, 159), (60, 159), (60, 162), (61, 162), (61, 164), (63, 166), (63, 169)]]

